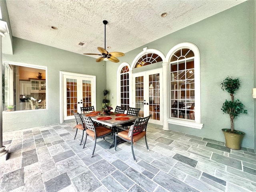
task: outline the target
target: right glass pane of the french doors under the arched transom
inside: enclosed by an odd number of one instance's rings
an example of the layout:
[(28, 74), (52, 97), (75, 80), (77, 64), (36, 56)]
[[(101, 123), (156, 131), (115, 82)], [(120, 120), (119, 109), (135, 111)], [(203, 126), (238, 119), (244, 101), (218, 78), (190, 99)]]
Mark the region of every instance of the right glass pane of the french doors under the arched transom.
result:
[(159, 73), (149, 75), (149, 114), (151, 119), (160, 120), (160, 81)]

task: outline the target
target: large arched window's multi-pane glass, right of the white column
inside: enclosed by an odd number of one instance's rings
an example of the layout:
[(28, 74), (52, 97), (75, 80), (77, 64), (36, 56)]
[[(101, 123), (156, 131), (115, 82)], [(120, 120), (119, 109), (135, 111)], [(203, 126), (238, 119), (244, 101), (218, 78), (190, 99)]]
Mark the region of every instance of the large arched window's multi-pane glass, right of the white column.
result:
[(184, 48), (171, 58), (171, 117), (194, 120), (194, 53)]

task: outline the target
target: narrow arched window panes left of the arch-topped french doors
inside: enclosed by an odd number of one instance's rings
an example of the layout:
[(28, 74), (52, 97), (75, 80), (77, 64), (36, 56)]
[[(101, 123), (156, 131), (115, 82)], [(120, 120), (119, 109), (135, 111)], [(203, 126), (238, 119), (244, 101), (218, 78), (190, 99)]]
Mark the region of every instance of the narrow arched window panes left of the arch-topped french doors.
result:
[(120, 104), (125, 110), (129, 107), (129, 68), (124, 66), (120, 72)]

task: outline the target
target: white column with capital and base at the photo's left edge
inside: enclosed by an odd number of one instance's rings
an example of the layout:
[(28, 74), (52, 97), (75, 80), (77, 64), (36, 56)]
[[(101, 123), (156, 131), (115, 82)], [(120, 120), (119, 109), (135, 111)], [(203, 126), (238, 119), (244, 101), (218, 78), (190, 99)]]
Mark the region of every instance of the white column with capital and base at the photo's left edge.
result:
[[(2, 37), (5, 37), (9, 33), (7, 23), (0, 20), (0, 90), (2, 90)], [(7, 157), (8, 151), (5, 150), (3, 146), (3, 93), (0, 93), (0, 157)], [(2, 158), (1, 158), (2, 160)], [(5, 159), (6, 160), (6, 159)]]

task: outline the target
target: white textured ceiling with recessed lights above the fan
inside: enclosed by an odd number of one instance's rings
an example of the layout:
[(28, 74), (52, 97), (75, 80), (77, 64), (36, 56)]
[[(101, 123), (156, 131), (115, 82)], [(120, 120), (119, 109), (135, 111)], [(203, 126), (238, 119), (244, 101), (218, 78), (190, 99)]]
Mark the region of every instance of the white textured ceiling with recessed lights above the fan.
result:
[(83, 54), (104, 48), (103, 20), (111, 47), (106, 49), (126, 53), (244, 1), (6, 0), (6, 5), (13, 36)]

